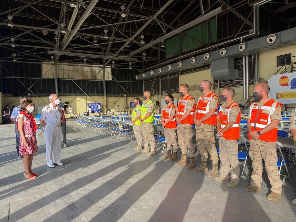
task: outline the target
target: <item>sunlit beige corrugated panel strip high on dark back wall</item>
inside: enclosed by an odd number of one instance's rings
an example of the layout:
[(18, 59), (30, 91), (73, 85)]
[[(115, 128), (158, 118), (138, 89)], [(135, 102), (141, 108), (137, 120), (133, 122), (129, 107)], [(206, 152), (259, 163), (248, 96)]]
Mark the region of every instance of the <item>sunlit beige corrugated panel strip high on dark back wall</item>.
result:
[[(54, 78), (54, 65), (49, 62), (42, 62), (42, 77)], [(65, 63), (64, 63), (65, 64)], [(111, 67), (105, 67), (106, 80), (112, 80)], [(94, 79), (103, 80), (103, 69), (98, 65), (73, 66), (63, 63), (57, 65), (57, 78), (61, 79)]]

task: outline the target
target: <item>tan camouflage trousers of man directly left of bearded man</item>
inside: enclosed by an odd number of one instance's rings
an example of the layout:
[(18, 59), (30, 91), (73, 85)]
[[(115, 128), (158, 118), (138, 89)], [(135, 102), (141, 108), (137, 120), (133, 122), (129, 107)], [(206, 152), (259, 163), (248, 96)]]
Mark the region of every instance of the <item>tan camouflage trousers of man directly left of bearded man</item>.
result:
[(219, 149), (221, 160), (221, 176), (231, 180), (239, 181), (239, 160), (237, 159), (238, 144), (237, 140), (227, 140), (224, 137), (219, 137)]

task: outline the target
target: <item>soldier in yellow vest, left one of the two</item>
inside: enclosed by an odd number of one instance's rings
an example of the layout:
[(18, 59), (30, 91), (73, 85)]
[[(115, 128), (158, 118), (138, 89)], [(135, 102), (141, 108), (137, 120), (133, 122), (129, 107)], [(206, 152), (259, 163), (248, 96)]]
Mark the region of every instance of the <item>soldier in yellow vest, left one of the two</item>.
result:
[(133, 132), (135, 133), (136, 140), (138, 145), (134, 147), (135, 150), (142, 149), (143, 143), (143, 135), (142, 135), (142, 124), (140, 123), (140, 116), (141, 116), (141, 106), (140, 106), (140, 99), (135, 98), (133, 100), (133, 104), (135, 108), (132, 112), (131, 124), (133, 124)]

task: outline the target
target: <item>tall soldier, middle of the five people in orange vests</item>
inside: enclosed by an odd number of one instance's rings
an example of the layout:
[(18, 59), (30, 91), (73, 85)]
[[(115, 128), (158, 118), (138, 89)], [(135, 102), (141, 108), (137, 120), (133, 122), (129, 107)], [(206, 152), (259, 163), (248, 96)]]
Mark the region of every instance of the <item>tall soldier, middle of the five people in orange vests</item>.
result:
[(212, 83), (209, 80), (203, 80), (200, 83), (200, 96), (194, 115), (196, 129), (197, 150), (200, 153), (202, 163), (194, 168), (194, 172), (207, 172), (208, 152), (212, 160), (212, 171), (207, 176), (215, 177), (219, 174), (218, 153), (215, 146), (214, 129), (217, 123), (218, 96), (211, 91)]

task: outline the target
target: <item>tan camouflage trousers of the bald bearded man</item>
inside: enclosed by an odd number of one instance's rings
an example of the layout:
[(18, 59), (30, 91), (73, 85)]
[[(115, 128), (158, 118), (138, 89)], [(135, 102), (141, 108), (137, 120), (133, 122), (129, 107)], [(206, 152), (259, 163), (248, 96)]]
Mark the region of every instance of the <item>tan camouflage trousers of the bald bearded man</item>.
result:
[(279, 169), (276, 166), (277, 155), (275, 146), (261, 146), (250, 143), (249, 156), (252, 160), (253, 173), (251, 176), (251, 184), (260, 187), (262, 182), (262, 159), (265, 162), (268, 179), (271, 184), (271, 191), (277, 194), (281, 193), (281, 186), (283, 185), (279, 176)]

